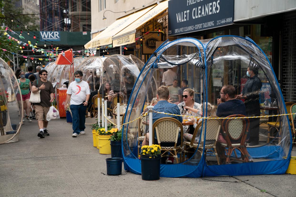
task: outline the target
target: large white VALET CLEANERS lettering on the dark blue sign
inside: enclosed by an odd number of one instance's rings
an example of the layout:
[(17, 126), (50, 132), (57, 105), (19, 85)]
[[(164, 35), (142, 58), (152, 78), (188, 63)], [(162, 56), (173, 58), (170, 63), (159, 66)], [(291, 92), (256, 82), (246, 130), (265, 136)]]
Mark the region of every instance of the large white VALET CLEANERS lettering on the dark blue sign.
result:
[[(197, 3), (199, 1), (203, 1), (203, 0), (187, 0), (187, 5), (191, 5), (194, 3)], [(200, 17), (204, 17), (210, 14), (216, 14), (219, 13), (220, 11), (220, 6), (219, 6), (219, 2), (218, 1), (214, 1), (208, 4), (202, 5), (202, 6), (198, 6), (192, 9), (192, 19), (195, 18), (200, 18)], [(186, 20), (189, 20), (191, 16), (189, 16), (190, 14), (190, 10), (186, 10), (184, 12), (179, 12), (176, 14), (177, 17), (177, 22), (184, 22)]]

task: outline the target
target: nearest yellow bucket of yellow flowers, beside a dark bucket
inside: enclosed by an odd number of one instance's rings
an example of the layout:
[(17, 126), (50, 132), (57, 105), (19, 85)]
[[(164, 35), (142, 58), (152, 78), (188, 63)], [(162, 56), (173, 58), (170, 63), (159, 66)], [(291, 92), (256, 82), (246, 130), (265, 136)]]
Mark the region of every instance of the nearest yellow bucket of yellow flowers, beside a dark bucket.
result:
[(108, 125), (110, 130), (105, 131), (105, 128), (99, 128), (98, 132), (98, 148), (100, 149), (100, 154), (111, 154), (111, 146), (110, 146), (110, 137), (114, 132), (117, 132), (117, 128), (112, 128)]

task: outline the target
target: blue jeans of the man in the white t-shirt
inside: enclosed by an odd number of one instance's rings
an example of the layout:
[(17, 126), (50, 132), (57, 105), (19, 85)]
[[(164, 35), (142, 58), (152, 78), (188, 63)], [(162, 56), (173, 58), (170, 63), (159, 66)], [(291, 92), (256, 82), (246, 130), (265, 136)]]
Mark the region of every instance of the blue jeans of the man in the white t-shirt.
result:
[(73, 133), (79, 134), (85, 129), (85, 111), (87, 106), (80, 105), (70, 105), (70, 110), (72, 112), (72, 128)]

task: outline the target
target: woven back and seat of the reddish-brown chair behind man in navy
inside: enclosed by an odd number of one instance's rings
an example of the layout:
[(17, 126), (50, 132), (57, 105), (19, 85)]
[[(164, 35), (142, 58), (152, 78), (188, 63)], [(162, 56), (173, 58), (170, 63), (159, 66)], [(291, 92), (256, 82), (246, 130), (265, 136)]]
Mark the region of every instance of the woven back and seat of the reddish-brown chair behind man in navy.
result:
[[(245, 115), (230, 115), (226, 118), (231, 117), (246, 117)], [(226, 142), (228, 146), (231, 146), (233, 141), (239, 141), (240, 144), (244, 144), (244, 141), (247, 138), (247, 132), (249, 129), (249, 119), (240, 118), (240, 119), (223, 119), (222, 121), (222, 130), (226, 135)], [(236, 143), (237, 144), (237, 143)]]

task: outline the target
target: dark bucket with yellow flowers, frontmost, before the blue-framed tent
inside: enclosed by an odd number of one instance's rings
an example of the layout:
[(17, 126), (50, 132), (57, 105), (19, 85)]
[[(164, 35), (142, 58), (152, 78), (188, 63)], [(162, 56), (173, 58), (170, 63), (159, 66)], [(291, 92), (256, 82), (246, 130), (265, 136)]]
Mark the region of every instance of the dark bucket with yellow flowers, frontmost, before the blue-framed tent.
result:
[(160, 146), (152, 144), (141, 147), (141, 173), (143, 180), (159, 180), (160, 178)]

